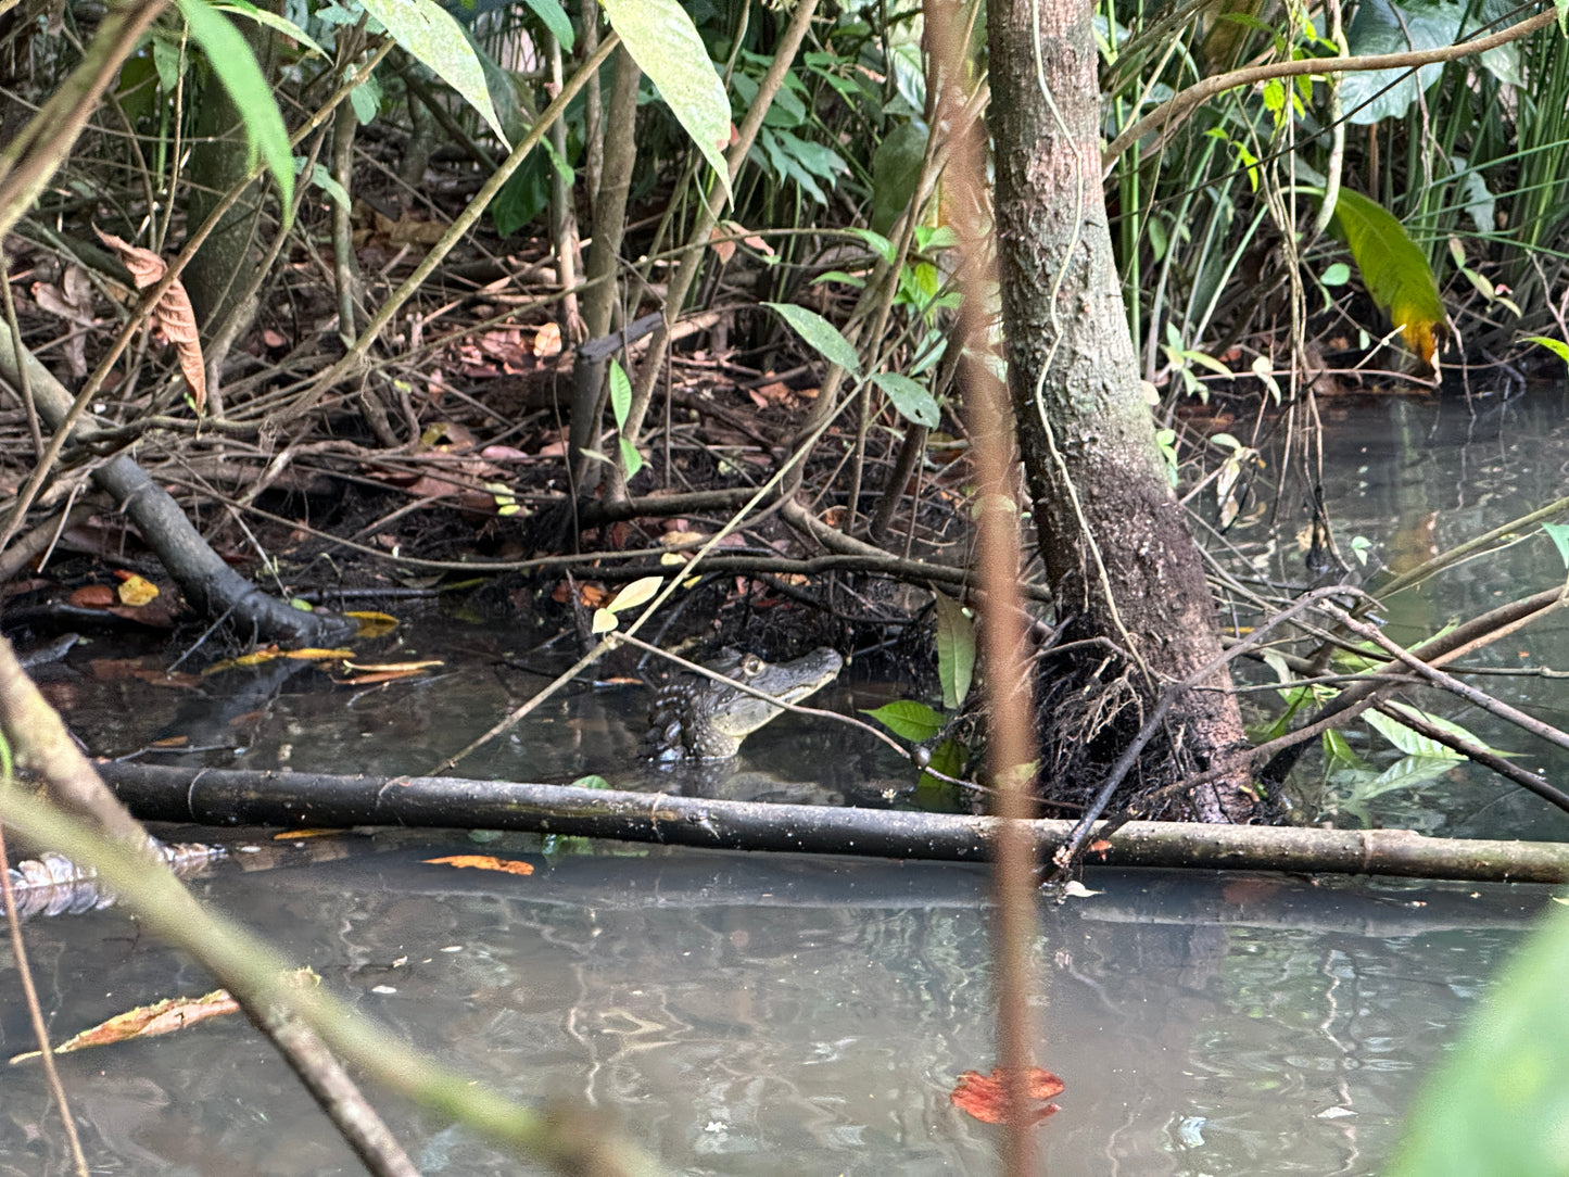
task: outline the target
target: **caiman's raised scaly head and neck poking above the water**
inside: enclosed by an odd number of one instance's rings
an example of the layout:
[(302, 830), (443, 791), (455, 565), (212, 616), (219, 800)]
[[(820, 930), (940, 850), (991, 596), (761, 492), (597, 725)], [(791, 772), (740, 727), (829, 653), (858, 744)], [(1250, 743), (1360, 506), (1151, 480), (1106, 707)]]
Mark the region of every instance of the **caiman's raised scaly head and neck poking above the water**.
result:
[[(726, 648), (708, 669), (786, 703), (799, 703), (832, 683), (843, 665), (844, 659), (827, 647), (794, 662), (764, 662), (756, 654)], [(725, 760), (781, 711), (728, 683), (683, 675), (654, 695), (648, 708), (648, 734), (639, 752), (648, 760)]]

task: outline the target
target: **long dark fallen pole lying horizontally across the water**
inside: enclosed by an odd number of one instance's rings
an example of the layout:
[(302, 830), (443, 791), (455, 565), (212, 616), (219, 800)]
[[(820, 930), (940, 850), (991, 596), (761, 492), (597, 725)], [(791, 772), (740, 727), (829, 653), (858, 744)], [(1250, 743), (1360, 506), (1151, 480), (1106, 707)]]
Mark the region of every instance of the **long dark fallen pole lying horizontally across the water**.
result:
[[(204, 825), (427, 825), (527, 830), (731, 851), (860, 854), (982, 862), (995, 818), (764, 805), (665, 793), (460, 777), (342, 777), (102, 763), (99, 774), (144, 821)], [(1073, 829), (1031, 822), (1042, 860)], [(1569, 844), (1428, 838), (1414, 830), (1128, 822), (1090, 852), (1109, 866), (1196, 866), (1395, 874), (1475, 882), (1569, 879)]]

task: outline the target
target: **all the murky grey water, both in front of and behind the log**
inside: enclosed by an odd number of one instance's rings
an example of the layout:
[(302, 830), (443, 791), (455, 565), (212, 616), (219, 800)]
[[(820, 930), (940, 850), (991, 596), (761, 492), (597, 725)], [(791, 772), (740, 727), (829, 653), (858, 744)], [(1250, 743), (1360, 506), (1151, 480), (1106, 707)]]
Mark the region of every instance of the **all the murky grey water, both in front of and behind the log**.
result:
[[(1489, 408), (1497, 416), (1481, 424), (1412, 402), (1360, 410), (1329, 438), (1341, 543), (1365, 535), (1379, 559), (1414, 560), (1556, 497), (1569, 455), (1561, 410), (1558, 399)], [(1298, 556), (1276, 559), (1277, 573), (1301, 576)], [(1390, 603), (1393, 632), (1412, 640), (1545, 587), (1563, 576), (1556, 560), (1536, 538), (1464, 565)], [(372, 656), (444, 658), (447, 676), (358, 694), (309, 669), (158, 692), (93, 681), (82, 669), (94, 654), (77, 650), (52, 691), (97, 752), (177, 731), (204, 749), (187, 755), (210, 764), (417, 772), (537, 689), (496, 658), (524, 645), (457, 623), (416, 626)], [(1561, 618), (1503, 645), (1478, 658), (1569, 667)], [(1487, 686), (1549, 720), (1564, 711), (1552, 680)], [(886, 697), (852, 680), (822, 705)], [(1522, 747), (1453, 701), (1422, 701)], [(552, 700), (460, 771), (634, 785), (620, 774), (643, 706), (635, 689)], [(1365, 733), (1351, 739), (1385, 755)], [(1527, 763), (1563, 767), (1531, 752)], [(640, 780), (868, 803), (902, 788), (863, 736), (797, 716), (753, 736), (736, 767)], [(1343, 797), (1321, 800), (1346, 814)], [(1541, 802), (1464, 767), (1384, 794), (1367, 816), (1470, 836), (1569, 835)], [(508, 838), (485, 852), (524, 857), (537, 873), (504, 877), (422, 862), (472, 851), (461, 835), (334, 846), (336, 858), (319, 849), (326, 860), (268, 871), (248, 873), (237, 855), (196, 885), (475, 1078), (613, 1110), (676, 1172), (996, 1171), (996, 1131), (948, 1103), (959, 1072), (993, 1064), (982, 871), (609, 844), (544, 854)], [(1040, 1061), (1067, 1081), (1062, 1111), (1040, 1128), (1058, 1177), (1376, 1172), (1418, 1081), (1545, 901), (1542, 888), (1263, 876), (1101, 871), (1087, 884), (1103, 893), (1043, 912), (1037, 945)], [(210, 987), (122, 912), (39, 920), (28, 937), (58, 1037)], [(0, 949), (0, 984), (14, 993), (11, 968)], [(8, 1055), (31, 1045), (14, 1000), (0, 1034)], [(240, 1018), (63, 1069), (96, 1172), (359, 1172)], [(378, 1102), (422, 1172), (518, 1172), (472, 1135)], [(0, 1177), (66, 1172), (58, 1141), (38, 1067), (5, 1072)]]

